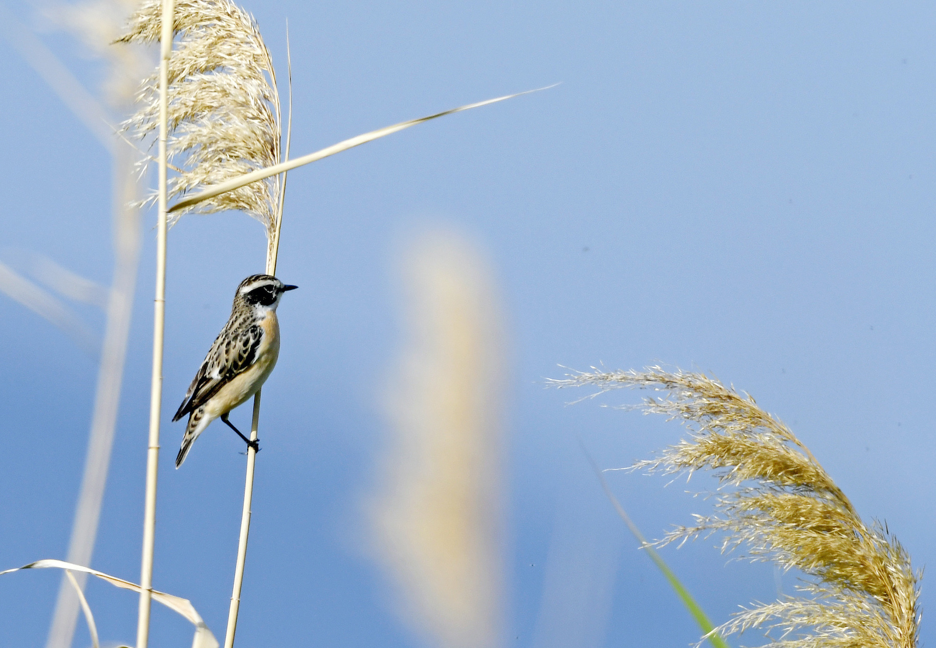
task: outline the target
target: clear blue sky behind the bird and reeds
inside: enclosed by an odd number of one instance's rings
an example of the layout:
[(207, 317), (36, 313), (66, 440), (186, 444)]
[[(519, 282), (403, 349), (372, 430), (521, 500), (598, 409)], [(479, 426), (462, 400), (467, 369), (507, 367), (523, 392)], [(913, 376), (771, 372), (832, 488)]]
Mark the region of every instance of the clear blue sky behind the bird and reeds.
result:
[[(28, 24), (34, 8), (7, 5)], [(455, 228), (490, 258), (509, 390), (505, 645), (686, 645), (694, 623), (636, 550), (578, 449), (648, 457), (676, 423), (610, 408), (636, 393), (545, 389), (559, 365), (697, 369), (787, 422), (870, 521), (936, 556), (931, 434), (936, 7), (870, 2), (309, 3), (257, 0), (285, 79), (294, 155), (381, 125), (549, 83), (290, 175), (278, 274), (284, 352), (264, 390), (240, 645), (419, 645), (361, 545), (400, 344), (400, 249)], [(89, 88), (97, 62), (43, 41)], [(41, 252), (110, 283), (110, 158), (0, 41), (0, 260)], [(139, 579), (150, 390), (154, 213), (93, 567)], [(193, 216), (169, 233), (154, 585), (223, 635), (243, 485), (220, 423), (183, 469), (169, 419), (263, 268), (262, 228)], [(95, 330), (93, 309), (80, 308)], [(96, 365), (0, 296), (0, 567), (64, 557)], [(479, 376), (479, 379), (484, 379)], [(247, 425), (249, 407), (232, 420)], [(265, 430), (265, 431), (264, 431)], [(645, 534), (707, 506), (684, 483), (609, 473)], [(697, 476), (688, 488), (714, 482)], [(665, 558), (716, 622), (791, 593), (792, 574), (726, 563), (699, 540)], [(0, 643), (45, 641), (59, 574), (0, 581)], [(562, 583), (562, 587), (554, 583)], [(550, 583), (553, 583), (550, 585)], [(933, 608), (924, 580), (922, 604)], [(91, 583), (102, 638), (134, 641), (137, 597)], [(154, 612), (152, 645), (190, 626)], [(76, 646), (87, 645), (80, 625)], [(936, 641), (924, 616), (921, 640)], [(756, 644), (746, 637), (744, 643)], [(738, 645), (738, 641), (734, 641)]]

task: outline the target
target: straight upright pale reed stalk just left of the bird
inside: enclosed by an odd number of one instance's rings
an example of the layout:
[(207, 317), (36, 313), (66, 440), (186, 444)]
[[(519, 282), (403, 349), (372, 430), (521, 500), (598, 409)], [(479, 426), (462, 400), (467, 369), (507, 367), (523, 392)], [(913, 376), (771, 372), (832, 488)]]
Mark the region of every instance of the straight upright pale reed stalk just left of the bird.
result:
[(163, 340), (166, 324), (166, 232), (168, 226), (167, 142), (169, 58), (172, 55), (173, 0), (163, 0), (159, 52), (159, 220), (156, 225), (156, 295), (153, 324), (153, 378), (150, 392), (150, 438), (146, 452), (146, 495), (143, 512), (143, 556), (139, 576), (137, 648), (150, 641), (153, 599), (153, 552), (156, 533), (156, 479), (159, 473), (159, 415), (163, 399)]

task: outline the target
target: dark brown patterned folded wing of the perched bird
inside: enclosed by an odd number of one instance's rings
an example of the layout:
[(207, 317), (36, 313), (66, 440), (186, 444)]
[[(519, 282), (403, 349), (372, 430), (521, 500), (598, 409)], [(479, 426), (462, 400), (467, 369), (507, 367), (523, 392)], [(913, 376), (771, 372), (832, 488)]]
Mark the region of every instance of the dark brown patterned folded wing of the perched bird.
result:
[[(240, 332), (231, 334), (230, 331)], [(256, 351), (263, 335), (263, 329), (257, 324), (245, 326), (242, 322), (229, 321), (215, 338), (172, 420), (180, 420), (205, 405), (227, 382), (246, 371), (256, 361)]]

